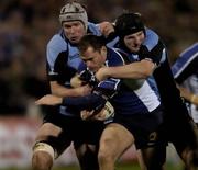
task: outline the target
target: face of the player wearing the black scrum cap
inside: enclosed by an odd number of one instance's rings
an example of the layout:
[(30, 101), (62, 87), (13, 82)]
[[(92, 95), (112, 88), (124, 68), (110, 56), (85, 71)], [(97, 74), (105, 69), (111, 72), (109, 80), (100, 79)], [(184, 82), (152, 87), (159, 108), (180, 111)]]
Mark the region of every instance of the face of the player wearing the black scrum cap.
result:
[(132, 52), (138, 53), (145, 38), (144, 32), (140, 31), (134, 34), (124, 36), (125, 46)]

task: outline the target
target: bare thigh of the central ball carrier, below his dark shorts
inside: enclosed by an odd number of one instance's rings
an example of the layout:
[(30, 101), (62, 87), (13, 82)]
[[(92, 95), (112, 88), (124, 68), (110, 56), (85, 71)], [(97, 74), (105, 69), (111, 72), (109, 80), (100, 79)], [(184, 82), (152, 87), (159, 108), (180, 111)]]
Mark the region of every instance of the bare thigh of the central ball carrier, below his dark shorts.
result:
[(118, 159), (133, 143), (133, 135), (124, 126), (111, 123), (101, 135), (99, 156), (105, 154)]

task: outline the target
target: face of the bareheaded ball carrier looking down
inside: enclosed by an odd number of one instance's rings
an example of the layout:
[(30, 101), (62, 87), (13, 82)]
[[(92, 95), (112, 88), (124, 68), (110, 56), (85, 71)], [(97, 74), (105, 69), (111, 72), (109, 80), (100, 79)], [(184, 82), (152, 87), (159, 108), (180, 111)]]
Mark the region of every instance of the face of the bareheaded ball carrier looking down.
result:
[(95, 50), (92, 47), (88, 47), (81, 54), (81, 59), (86, 63), (87, 67), (96, 72), (105, 65), (107, 58), (107, 48), (102, 47), (100, 50)]

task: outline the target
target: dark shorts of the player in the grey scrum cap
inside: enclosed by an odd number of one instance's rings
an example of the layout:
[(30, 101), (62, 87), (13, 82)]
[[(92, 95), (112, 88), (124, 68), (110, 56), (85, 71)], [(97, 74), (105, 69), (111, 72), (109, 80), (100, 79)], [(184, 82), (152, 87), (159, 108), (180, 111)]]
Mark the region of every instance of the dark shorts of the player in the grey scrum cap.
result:
[(82, 121), (80, 117), (66, 116), (61, 113), (48, 113), (44, 117), (44, 123), (52, 123), (63, 129), (58, 137), (48, 134), (47, 144), (63, 150), (72, 141), (75, 146), (81, 144), (98, 145), (101, 133), (105, 128), (101, 121)]

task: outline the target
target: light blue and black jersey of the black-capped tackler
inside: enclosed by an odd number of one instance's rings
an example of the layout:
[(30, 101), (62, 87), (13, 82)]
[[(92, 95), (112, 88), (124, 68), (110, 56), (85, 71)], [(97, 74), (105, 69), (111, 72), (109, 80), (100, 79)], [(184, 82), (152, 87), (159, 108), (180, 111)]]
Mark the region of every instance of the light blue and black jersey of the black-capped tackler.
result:
[(143, 53), (139, 54), (140, 59), (150, 58), (157, 66), (153, 72), (153, 78), (157, 84), (166, 115), (179, 114), (180, 112), (187, 115), (187, 107), (180, 98), (172, 73), (166, 46), (155, 32), (147, 30), (142, 50)]

